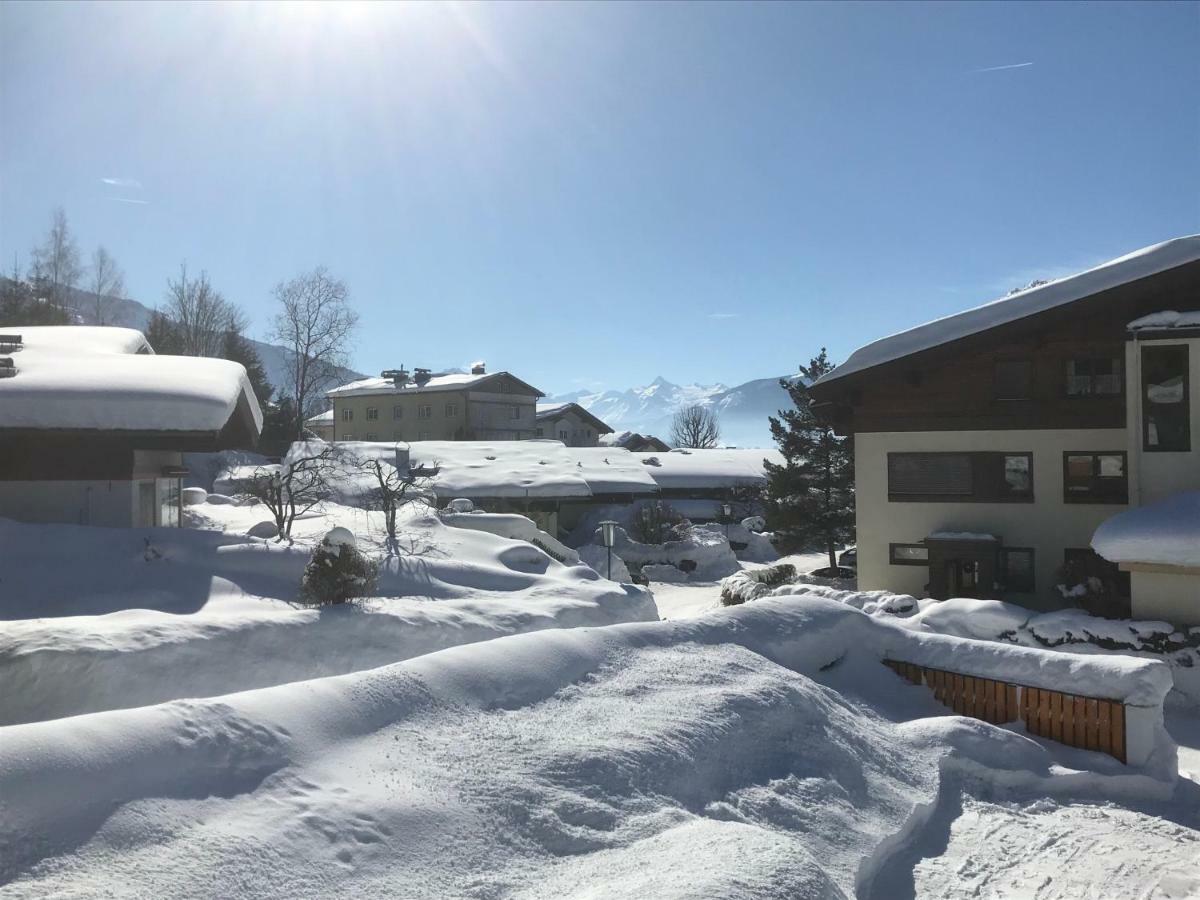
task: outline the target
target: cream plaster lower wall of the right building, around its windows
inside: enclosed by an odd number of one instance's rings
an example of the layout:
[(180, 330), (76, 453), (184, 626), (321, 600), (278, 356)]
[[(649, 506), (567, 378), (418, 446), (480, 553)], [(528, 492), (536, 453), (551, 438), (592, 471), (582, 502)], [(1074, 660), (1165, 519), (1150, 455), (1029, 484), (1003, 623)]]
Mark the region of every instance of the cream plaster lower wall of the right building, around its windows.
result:
[[(986, 532), (1004, 546), (1034, 550), (1034, 594), (1008, 599), (1040, 608), (1062, 605), (1056, 570), (1067, 547), (1088, 547), (1092, 533), (1121, 504), (1063, 503), (1064, 451), (1124, 450), (1124, 428), (1056, 431), (876, 432), (854, 436), (858, 586), (924, 594), (925, 566), (890, 565), (888, 544), (916, 544), (932, 532)], [(1033, 503), (890, 503), (888, 452), (984, 450), (1033, 454)]]

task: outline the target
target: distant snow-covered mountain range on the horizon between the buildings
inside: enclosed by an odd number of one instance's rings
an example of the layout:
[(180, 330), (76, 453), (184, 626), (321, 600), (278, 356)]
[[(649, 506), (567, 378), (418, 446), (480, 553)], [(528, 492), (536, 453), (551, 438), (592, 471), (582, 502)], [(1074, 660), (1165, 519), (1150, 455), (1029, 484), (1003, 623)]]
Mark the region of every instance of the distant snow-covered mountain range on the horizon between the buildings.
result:
[[(791, 377), (791, 376), (788, 376)], [(712, 407), (721, 425), (721, 443), (773, 446), (767, 416), (791, 406), (779, 378), (757, 378), (736, 388), (724, 384), (672, 384), (661, 376), (644, 388), (574, 391), (546, 397), (547, 403), (578, 403), (617, 431), (655, 434), (670, 442), (671, 418), (680, 407)]]

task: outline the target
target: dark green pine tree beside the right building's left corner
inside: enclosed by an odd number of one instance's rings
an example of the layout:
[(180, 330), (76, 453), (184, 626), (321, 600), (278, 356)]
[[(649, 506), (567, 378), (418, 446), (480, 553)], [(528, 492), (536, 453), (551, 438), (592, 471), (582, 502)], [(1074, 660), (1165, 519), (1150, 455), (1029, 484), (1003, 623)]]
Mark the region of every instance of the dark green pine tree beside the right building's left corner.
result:
[(768, 462), (767, 527), (787, 550), (820, 546), (838, 564), (838, 547), (854, 539), (854, 445), (840, 438), (833, 426), (817, 419), (809, 385), (832, 372), (822, 347), (800, 378), (781, 379), (792, 398), (792, 409), (770, 416), (770, 433), (784, 455), (784, 464)]

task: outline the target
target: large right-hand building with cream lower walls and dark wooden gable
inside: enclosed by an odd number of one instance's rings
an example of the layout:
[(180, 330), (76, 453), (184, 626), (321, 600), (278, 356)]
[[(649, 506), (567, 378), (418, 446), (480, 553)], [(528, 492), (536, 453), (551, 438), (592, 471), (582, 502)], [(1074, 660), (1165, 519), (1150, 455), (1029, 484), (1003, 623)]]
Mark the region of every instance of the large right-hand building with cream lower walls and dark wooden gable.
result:
[(854, 436), (859, 587), (1052, 608), (1068, 563), (1104, 572), (1098, 526), (1200, 488), (1200, 341), (1151, 316), (1198, 307), (1200, 236), (1181, 238), (876, 341), (817, 382), (816, 409)]

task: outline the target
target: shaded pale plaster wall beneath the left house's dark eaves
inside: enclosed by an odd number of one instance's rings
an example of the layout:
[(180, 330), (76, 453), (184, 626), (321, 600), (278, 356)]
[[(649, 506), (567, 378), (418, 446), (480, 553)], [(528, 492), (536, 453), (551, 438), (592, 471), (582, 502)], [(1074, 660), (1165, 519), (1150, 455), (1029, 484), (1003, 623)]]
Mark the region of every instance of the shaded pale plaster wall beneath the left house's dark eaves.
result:
[(19, 522), (130, 528), (136, 481), (0, 481), (0, 516)]

